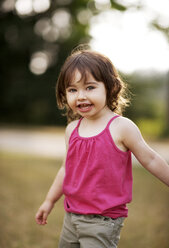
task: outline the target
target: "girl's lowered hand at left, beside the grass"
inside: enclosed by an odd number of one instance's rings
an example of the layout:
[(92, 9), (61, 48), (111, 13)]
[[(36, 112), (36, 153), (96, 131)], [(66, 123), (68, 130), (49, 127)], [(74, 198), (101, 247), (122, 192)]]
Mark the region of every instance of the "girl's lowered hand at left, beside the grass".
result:
[(39, 225), (47, 224), (47, 217), (54, 207), (54, 203), (51, 201), (44, 201), (44, 203), (40, 206), (38, 212), (36, 213), (35, 220)]

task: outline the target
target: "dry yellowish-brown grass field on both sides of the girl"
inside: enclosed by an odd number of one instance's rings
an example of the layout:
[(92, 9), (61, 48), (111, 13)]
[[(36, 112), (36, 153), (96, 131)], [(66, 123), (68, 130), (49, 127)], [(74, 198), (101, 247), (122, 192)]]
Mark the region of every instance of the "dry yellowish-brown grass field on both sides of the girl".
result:
[[(38, 226), (34, 215), (59, 166), (60, 161), (52, 159), (0, 154), (0, 248), (57, 247), (63, 199), (48, 225)], [(133, 177), (133, 202), (119, 248), (168, 248), (168, 188), (138, 166), (133, 168)]]

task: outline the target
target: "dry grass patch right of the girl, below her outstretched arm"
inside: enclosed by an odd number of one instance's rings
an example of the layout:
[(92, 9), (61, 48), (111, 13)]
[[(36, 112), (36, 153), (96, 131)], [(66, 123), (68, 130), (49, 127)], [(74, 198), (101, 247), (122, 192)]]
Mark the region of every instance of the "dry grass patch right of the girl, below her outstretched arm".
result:
[(133, 201), (119, 248), (168, 248), (168, 187), (141, 167), (133, 169), (133, 177)]

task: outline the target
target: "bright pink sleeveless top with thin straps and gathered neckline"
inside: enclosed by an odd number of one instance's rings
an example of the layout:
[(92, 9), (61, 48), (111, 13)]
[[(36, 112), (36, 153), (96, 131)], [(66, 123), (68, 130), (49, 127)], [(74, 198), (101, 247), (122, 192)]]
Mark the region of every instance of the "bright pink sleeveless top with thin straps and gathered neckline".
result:
[(63, 182), (64, 208), (76, 214), (127, 217), (132, 200), (131, 152), (114, 143), (109, 126), (92, 137), (81, 137), (77, 127), (69, 139)]

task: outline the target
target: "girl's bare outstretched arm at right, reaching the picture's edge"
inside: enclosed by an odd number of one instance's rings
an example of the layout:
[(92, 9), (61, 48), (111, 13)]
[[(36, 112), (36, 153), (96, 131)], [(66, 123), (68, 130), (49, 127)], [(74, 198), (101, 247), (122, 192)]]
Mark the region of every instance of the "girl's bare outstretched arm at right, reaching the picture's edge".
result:
[(169, 166), (167, 162), (144, 141), (138, 127), (131, 121), (125, 120), (126, 129), (123, 131), (123, 143), (131, 150), (141, 165), (151, 174), (169, 186)]

